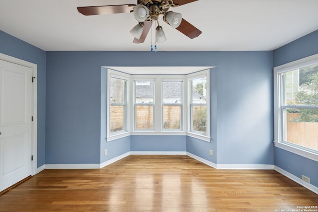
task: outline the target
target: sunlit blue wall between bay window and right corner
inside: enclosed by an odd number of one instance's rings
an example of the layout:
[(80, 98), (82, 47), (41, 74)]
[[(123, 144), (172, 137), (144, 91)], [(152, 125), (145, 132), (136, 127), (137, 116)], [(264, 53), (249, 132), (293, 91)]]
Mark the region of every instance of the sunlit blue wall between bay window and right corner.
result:
[(270, 52), (222, 52), (218, 62), (218, 164), (273, 164)]

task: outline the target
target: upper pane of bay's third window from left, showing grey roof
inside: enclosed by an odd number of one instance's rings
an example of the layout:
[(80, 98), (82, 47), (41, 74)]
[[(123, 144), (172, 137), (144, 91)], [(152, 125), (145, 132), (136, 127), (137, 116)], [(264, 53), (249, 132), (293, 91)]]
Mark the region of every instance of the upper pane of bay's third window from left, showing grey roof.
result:
[(181, 103), (182, 82), (162, 82), (163, 104)]

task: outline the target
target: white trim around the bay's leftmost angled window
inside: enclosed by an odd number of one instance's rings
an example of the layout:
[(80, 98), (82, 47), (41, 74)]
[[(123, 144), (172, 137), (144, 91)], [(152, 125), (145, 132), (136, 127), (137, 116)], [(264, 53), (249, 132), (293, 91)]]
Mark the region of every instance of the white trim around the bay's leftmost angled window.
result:
[[(120, 131), (115, 134), (111, 134), (110, 129), (108, 126), (110, 126), (110, 78), (115, 77), (119, 79), (124, 79), (127, 80), (126, 84), (126, 130), (125, 131)], [(106, 136), (106, 141), (113, 141), (116, 139), (120, 139), (126, 136), (130, 136), (130, 131), (131, 131), (131, 126), (130, 126), (130, 93), (129, 93), (129, 86), (130, 86), (130, 75), (127, 73), (122, 73), (119, 71), (114, 71), (111, 69), (107, 69), (107, 136)]]

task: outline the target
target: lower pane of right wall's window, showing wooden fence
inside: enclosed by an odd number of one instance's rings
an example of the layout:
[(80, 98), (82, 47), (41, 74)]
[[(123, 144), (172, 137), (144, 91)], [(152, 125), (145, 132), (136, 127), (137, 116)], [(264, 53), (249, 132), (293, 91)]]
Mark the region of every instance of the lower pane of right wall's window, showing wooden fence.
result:
[(288, 142), (318, 151), (318, 110), (287, 109), (286, 137)]

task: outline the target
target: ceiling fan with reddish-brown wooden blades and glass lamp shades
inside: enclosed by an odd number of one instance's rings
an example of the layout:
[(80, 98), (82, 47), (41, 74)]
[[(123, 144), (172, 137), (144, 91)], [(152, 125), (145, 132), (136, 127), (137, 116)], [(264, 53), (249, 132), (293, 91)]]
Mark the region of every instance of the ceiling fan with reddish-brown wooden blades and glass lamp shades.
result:
[(202, 32), (177, 12), (168, 11), (170, 7), (181, 6), (197, 0), (137, 0), (137, 4), (105, 5), (105, 6), (80, 6), (78, 10), (83, 15), (104, 15), (114, 13), (133, 12), (138, 24), (130, 30), (135, 37), (133, 43), (144, 43), (153, 22), (157, 22), (156, 42), (162, 43), (166, 40), (162, 27), (159, 25), (159, 15), (163, 21), (172, 28), (193, 39)]

